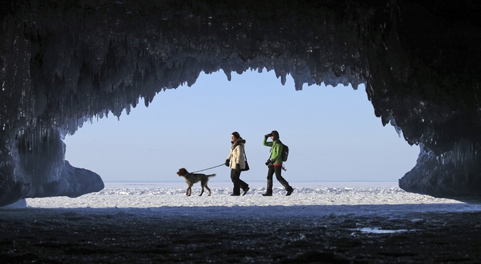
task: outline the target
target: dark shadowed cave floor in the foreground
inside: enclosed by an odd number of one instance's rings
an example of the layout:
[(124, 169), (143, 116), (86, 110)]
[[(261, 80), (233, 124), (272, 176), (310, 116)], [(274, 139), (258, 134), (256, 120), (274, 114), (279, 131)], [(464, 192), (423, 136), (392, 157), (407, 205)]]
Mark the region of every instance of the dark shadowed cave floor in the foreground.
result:
[[(175, 208), (171, 209), (175, 212)], [(184, 209), (185, 210), (185, 209)], [(201, 210), (201, 209), (198, 209)], [(1, 263), (481, 263), (481, 212), (0, 209)], [(259, 217), (262, 215), (262, 217)]]

